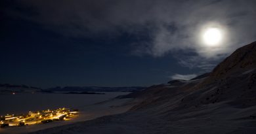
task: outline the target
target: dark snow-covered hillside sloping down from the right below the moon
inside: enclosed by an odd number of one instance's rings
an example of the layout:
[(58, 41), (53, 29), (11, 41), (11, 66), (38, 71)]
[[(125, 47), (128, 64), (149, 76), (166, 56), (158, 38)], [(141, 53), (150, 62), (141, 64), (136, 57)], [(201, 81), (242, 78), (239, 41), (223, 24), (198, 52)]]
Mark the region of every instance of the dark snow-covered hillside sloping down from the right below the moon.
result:
[(239, 48), (205, 78), (131, 93), (128, 112), (35, 133), (255, 133), (256, 42)]

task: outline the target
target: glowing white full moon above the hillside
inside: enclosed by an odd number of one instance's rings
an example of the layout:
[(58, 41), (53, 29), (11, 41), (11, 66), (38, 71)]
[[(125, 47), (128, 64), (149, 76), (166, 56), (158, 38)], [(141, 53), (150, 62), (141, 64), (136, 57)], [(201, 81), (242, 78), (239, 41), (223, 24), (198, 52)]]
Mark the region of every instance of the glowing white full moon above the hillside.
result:
[(211, 27), (203, 32), (203, 41), (208, 46), (217, 46), (221, 42), (222, 37), (223, 35), (219, 28)]

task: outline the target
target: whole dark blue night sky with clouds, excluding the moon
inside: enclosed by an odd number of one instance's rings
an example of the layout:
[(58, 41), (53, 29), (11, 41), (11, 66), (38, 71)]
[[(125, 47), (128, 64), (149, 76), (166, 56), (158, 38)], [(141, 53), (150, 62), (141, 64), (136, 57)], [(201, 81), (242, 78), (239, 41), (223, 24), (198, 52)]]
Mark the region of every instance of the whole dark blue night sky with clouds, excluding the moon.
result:
[[(150, 86), (211, 71), (256, 41), (254, 0), (1, 0), (0, 83)], [(203, 45), (205, 27), (223, 32)]]

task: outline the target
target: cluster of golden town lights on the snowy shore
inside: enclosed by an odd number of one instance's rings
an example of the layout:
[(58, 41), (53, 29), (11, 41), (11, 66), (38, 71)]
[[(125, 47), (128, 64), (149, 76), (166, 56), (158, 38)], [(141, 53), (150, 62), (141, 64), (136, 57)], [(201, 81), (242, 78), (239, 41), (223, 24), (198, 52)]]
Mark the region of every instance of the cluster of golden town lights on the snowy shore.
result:
[(78, 110), (56, 109), (56, 110), (41, 110), (36, 112), (28, 112), (20, 115), (5, 115), (0, 116), (1, 127), (9, 126), (31, 126), (34, 124), (46, 124), (49, 122), (70, 120), (78, 116)]

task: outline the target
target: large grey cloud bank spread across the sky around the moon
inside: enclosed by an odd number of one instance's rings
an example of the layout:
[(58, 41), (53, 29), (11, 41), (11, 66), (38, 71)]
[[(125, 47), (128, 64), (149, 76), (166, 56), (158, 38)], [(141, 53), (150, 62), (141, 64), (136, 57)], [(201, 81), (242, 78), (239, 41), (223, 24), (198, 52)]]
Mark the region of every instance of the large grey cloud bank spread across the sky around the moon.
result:
[[(118, 37), (129, 33), (147, 37), (145, 41), (133, 42), (132, 54), (173, 54), (185, 67), (209, 70), (213, 62), (256, 39), (254, 0), (20, 0), (16, 6), (19, 10), (9, 8), (5, 12), (66, 36)], [(28, 9), (35, 14), (20, 12)], [(221, 46), (202, 45), (200, 31), (210, 25), (226, 31)], [(196, 55), (177, 54), (188, 50)]]

